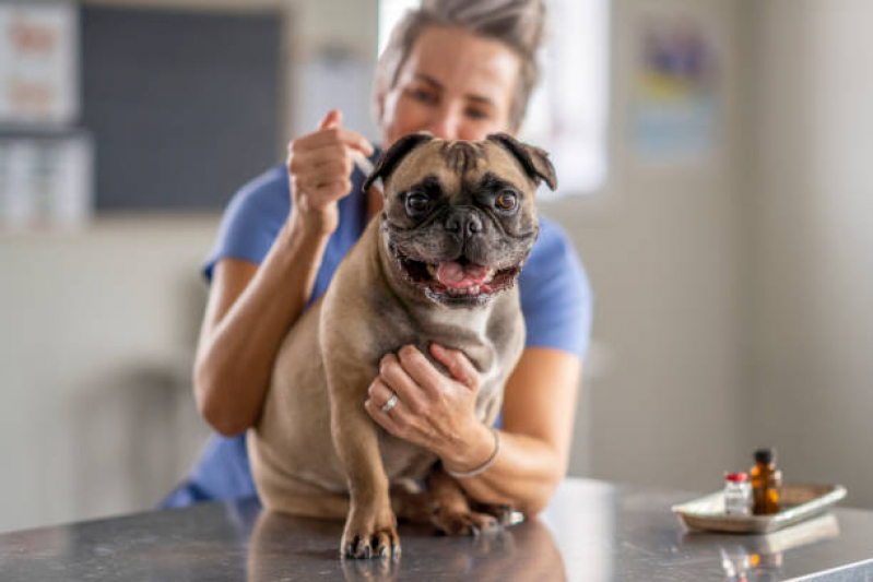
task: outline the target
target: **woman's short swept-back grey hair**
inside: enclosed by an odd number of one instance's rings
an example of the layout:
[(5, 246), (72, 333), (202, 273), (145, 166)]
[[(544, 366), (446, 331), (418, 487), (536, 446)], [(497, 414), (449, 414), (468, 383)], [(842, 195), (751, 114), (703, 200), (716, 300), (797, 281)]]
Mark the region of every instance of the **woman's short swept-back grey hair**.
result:
[(498, 40), (518, 55), (521, 67), (509, 111), (509, 123), (517, 129), (540, 75), (536, 50), (543, 37), (544, 22), (542, 0), (422, 0), (422, 5), (406, 12), (391, 31), (376, 69), (377, 95), (387, 93), (397, 84), (400, 69), (425, 28), (457, 27)]

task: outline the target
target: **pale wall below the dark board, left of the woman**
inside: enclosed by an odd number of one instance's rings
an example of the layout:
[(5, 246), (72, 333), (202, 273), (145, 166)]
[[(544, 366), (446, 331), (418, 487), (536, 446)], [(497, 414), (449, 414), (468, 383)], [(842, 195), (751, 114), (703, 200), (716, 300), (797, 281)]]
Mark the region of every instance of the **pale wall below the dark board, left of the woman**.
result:
[(190, 392), (215, 217), (0, 235), (0, 531), (144, 510), (205, 427)]

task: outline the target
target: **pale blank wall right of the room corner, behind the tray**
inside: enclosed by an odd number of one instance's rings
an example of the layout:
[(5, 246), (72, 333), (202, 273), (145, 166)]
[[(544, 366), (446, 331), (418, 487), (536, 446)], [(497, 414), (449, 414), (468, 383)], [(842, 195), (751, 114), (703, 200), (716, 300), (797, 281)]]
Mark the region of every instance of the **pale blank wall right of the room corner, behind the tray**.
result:
[(748, 446), (873, 507), (873, 3), (757, 3)]

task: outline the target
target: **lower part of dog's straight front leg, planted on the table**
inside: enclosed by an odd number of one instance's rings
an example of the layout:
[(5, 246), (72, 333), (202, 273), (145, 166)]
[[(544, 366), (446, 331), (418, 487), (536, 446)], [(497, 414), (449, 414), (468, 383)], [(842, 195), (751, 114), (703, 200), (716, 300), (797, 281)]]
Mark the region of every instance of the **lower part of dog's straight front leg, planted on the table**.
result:
[[(337, 394), (333, 390), (331, 393)], [(397, 519), (379, 454), (377, 426), (364, 409), (363, 400), (332, 400), (331, 432), (349, 477), (351, 497), (340, 551), (353, 558), (399, 555)]]

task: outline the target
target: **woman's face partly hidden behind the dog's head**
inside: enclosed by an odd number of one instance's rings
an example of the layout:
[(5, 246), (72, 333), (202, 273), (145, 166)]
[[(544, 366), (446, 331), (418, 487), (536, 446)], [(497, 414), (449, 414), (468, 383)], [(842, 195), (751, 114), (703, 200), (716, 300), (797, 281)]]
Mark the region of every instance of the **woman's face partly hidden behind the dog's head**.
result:
[(518, 56), (504, 44), (458, 28), (426, 28), (397, 84), (381, 96), (384, 146), (426, 130), (444, 140), (514, 133), (509, 123)]

